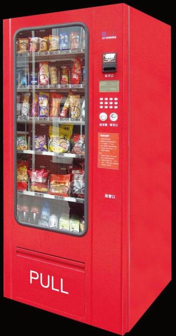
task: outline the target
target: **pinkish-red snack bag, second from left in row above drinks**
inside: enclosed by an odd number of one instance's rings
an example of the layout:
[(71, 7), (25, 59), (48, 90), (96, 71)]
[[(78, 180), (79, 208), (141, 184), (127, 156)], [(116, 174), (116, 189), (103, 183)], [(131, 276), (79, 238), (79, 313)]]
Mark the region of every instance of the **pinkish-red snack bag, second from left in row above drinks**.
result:
[(31, 179), (31, 191), (37, 191), (42, 193), (46, 193), (48, 191), (47, 179), (49, 170), (45, 170), (44, 168), (42, 168), (41, 170), (33, 170), (31, 168), (28, 169), (27, 173)]

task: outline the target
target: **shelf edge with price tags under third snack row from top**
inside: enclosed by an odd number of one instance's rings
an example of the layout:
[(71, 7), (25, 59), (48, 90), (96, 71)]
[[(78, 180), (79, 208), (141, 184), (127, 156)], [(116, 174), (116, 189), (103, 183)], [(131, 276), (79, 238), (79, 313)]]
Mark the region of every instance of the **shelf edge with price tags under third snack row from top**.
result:
[(60, 124), (85, 125), (85, 118), (57, 118), (57, 117), (17, 117), (17, 122), (36, 122), (38, 124), (58, 122)]

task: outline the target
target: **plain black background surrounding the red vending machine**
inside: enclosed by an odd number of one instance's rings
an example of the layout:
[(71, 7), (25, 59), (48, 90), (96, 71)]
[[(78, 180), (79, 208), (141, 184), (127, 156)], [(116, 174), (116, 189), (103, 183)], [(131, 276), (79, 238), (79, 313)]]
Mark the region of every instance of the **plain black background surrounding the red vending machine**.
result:
[[(3, 1), (4, 2), (4, 1)], [(84, 8), (84, 7), (92, 7), (98, 5), (107, 5), (112, 3), (118, 3), (122, 1), (14, 1), (14, 5), (11, 2), (8, 2), (7, 8), (1, 7), (1, 16), (2, 19), (8, 19), (13, 17), (20, 16), (28, 16), (34, 14), (43, 14), (49, 12), (57, 12), (62, 10), (76, 9), (76, 8)], [(173, 39), (173, 24), (174, 24), (174, 6), (171, 0), (167, 1), (125, 1), (125, 3), (131, 5), (132, 7), (139, 9), (154, 18), (161, 20), (165, 23), (172, 25), (172, 39)], [(15, 3), (17, 6), (15, 6)], [(1, 3), (2, 6), (2, 3)], [(75, 18), (76, 19), (76, 18)], [(176, 20), (176, 19), (175, 19)], [(1, 21), (1, 29), (2, 29), (2, 21)], [(1, 39), (2, 42), (2, 33)], [(174, 46), (173, 46), (174, 47)], [(2, 46), (0, 49), (0, 57), (2, 61)], [(174, 60), (174, 57), (173, 57)], [(173, 62), (174, 63), (174, 62)], [(174, 65), (174, 64), (173, 64)], [(1, 71), (2, 74), (2, 62), (1, 62)], [(2, 76), (1, 76), (2, 77)], [(0, 88), (3, 89), (2, 86), (2, 78), (0, 83)], [(0, 109), (0, 170), (1, 170), (1, 179), (0, 179), (0, 191), (2, 195), (3, 190), (3, 177), (2, 177), (2, 96), (0, 99), (1, 109)], [(10, 162), (6, 163), (6, 168), (8, 169), (8, 165)], [(10, 190), (9, 190), (10, 192)], [(5, 200), (4, 200), (5, 202)], [(2, 246), (2, 201), (0, 202), (0, 246), (1, 246), (1, 265), (3, 259), (3, 246)], [(92, 326), (56, 315), (52, 313), (48, 313), (42, 311), (40, 309), (30, 307), (24, 305), (22, 303), (12, 301), (6, 298), (3, 298), (3, 274), (2, 268), (0, 271), (0, 308), (1, 308), (1, 322), (0, 327), (5, 328), (5, 333), (17, 332), (19, 335), (23, 335), (26, 332), (31, 332), (33, 335), (48, 333), (48, 336), (52, 334), (61, 335), (61, 333), (66, 334), (69, 332), (71, 334), (82, 335), (85, 333), (93, 333), (97, 336), (110, 336), (115, 335), (109, 333), (107, 331), (94, 328)], [(140, 318), (138, 323), (133, 327), (130, 335), (159, 335), (162, 333), (163, 335), (170, 335), (173, 330), (173, 322), (174, 322), (174, 290), (173, 290), (173, 280), (172, 282), (165, 288), (165, 290), (159, 295), (159, 297), (154, 301), (152, 306), (147, 310), (147, 312)], [(140, 298), (139, 298), (140, 299)], [(13, 330), (13, 331), (12, 331)]]

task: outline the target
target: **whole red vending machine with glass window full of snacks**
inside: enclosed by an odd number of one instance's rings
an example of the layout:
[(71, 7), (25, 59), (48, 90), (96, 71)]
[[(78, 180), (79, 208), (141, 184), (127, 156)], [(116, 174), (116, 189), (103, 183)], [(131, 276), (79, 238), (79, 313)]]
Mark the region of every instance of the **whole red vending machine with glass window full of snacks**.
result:
[(4, 296), (120, 335), (171, 280), (170, 26), (4, 20)]

